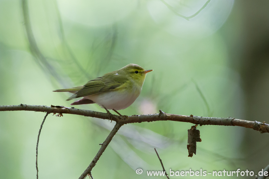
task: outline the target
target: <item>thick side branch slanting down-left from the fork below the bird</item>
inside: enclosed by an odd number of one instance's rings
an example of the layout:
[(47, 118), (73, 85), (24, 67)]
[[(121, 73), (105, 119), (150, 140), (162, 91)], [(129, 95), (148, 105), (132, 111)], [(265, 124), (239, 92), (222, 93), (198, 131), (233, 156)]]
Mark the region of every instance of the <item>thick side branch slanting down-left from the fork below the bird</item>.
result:
[(102, 144), (101, 148), (99, 149), (99, 151), (97, 152), (97, 154), (95, 155), (94, 159), (91, 161), (90, 165), (87, 167), (87, 169), (82, 173), (82, 175), (79, 177), (79, 179), (83, 179), (85, 178), (88, 174), (91, 173), (91, 170), (93, 169), (93, 167), (96, 165), (96, 162), (99, 160), (99, 158), (101, 157), (101, 155), (103, 154), (103, 152), (105, 151), (105, 149), (107, 148), (108, 144), (110, 143), (110, 141), (112, 140), (112, 138), (115, 136), (115, 134), (117, 133), (117, 131), (119, 130), (119, 128), (122, 126), (122, 123), (116, 123), (116, 125), (114, 126), (114, 128), (112, 129), (112, 131), (109, 133), (109, 135), (107, 136), (107, 138), (105, 139), (104, 143)]

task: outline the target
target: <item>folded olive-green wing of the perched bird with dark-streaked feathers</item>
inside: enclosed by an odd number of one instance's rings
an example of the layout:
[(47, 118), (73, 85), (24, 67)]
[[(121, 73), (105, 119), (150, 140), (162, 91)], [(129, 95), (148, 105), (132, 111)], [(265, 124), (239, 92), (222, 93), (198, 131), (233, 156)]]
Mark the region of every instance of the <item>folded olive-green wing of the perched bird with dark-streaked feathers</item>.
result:
[(111, 76), (112, 78), (104, 78), (103, 76), (95, 78), (89, 82), (87, 82), (85, 85), (83, 85), (83, 88), (79, 90), (77, 93), (73, 94), (70, 98), (68, 98), (66, 101), (88, 96), (91, 94), (97, 94), (106, 92), (109, 90), (115, 90), (119, 86), (123, 85), (127, 79), (121, 79), (121, 82), (118, 82), (113, 78), (114, 76)]

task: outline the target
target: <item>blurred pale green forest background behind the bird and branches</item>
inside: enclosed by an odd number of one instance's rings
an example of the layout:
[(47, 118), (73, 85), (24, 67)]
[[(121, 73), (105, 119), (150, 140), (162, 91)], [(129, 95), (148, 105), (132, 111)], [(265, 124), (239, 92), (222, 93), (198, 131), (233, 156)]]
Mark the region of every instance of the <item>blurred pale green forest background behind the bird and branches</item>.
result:
[[(71, 94), (52, 90), (135, 63), (154, 71), (137, 100), (119, 111), (123, 115), (162, 109), (269, 123), (268, 9), (267, 0), (0, 0), (0, 105), (70, 107), (65, 99)], [(75, 107), (105, 112), (95, 104)], [(0, 178), (36, 177), (44, 116), (0, 112)], [(49, 115), (38, 148), (39, 178), (78, 178), (114, 124)], [(93, 177), (149, 178), (147, 170), (162, 170), (154, 148), (167, 171), (240, 168), (257, 174), (269, 164), (268, 134), (233, 126), (199, 126), (202, 142), (190, 158), (191, 126), (122, 126)], [(140, 175), (138, 168), (144, 170)]]

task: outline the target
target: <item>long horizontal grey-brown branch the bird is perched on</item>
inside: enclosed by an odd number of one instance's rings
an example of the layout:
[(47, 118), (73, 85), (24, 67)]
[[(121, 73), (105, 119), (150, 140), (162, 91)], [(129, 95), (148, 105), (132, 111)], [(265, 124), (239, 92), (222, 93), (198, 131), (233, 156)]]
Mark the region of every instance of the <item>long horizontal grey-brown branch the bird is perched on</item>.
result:
[[(63, 114), (76, 114), (82, 116), (89, 116), (100, 119), (109, 119), (107, 113), (96, 112), (77, 108), (67, 108), (63, 106), (43, 106), (43, 105), (11, 105), (11, 106), (0, 106), (0, 111), (40, 111), (48, 113), (63, 113)], [(201, 116), (185, 116), (176, 114), (166, 114), (160, 110), (159, 114), (147, 114), (147, 115), (132, 115), (132, 116), (118, 116), (112, 114), (112, 120), (117, 123), (128, 124), (128, 123), (140, 123), (140, 122), (152, 122), (158, 120), (172, 120), (178, 122), (189, 122), (193, 124), (201, 125), (219, 125), (219, 126), (241, 126), (251, 128), (261, 133), (269, 133), (269, 125), (264, 122), (248, 121), (235, 118), (210, 118)]]

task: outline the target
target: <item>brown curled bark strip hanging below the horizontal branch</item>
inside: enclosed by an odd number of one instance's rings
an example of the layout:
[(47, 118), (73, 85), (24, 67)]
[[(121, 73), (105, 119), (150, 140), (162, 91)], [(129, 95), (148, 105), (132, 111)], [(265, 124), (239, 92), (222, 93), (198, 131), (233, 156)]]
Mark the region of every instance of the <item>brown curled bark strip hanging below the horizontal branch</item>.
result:
[(188, 129), (188, 145), (187, 149), (189, 151), (188, 157), (192, 157), (193, 154), (196, 155), (196, 142), (201, 142), (200, 131), (196, 129), (196, 126), (192, 126)]

